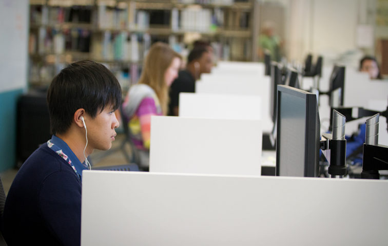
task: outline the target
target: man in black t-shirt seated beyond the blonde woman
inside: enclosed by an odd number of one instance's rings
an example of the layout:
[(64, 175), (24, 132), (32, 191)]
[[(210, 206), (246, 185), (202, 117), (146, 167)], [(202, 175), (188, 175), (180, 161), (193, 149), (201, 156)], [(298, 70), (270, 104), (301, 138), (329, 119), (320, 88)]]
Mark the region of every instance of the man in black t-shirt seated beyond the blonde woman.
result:
[(179, 93), (195, 92), (196, 81), (202, 73), (210, 73), (213, 66), (212, 52), (206, 46), (197, 46), (191, 50), (187, 58), (186, 69), (181, 70), (178, 78), (170, 87), (169, 116), (178, 116)]

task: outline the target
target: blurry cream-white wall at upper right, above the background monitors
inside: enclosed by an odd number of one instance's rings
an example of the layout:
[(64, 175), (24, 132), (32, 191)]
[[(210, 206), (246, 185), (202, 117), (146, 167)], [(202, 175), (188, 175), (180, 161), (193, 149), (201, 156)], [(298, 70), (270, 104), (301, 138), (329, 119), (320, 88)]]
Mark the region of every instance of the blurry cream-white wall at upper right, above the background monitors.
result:
[[(289, 0), (285, 23), (288, 60), (303, 62), (306, 54), (312, 52), (324, 55), (324, 62), (331, 65), (340, 54), (359, 50), (357, 27), (370, 24), (370, 1)], [(356, 52), (351, 59), (358, 60), (359, 56)]]

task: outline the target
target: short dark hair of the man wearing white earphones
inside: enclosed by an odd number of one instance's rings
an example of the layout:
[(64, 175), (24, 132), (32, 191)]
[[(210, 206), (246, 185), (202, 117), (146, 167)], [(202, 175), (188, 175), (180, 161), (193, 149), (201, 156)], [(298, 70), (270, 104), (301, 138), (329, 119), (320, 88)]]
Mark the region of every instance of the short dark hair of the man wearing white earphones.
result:
[(113, 73), (93, 61), (74, 62), (52, 80), (47, 92), (52, 134), (64, 134), (74, 113), (84, 108), (92, 117), (106, 106), (116, 110), (121, 103), (121, 86)]

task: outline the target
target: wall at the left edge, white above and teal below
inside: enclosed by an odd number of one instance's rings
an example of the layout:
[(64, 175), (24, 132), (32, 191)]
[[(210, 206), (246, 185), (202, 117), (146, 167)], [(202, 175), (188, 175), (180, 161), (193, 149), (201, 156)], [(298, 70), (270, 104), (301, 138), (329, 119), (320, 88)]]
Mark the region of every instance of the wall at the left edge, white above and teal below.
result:
[(0, 0), (0, 171), (16, 161), (16, 102), (27, 88), (28, 0)]

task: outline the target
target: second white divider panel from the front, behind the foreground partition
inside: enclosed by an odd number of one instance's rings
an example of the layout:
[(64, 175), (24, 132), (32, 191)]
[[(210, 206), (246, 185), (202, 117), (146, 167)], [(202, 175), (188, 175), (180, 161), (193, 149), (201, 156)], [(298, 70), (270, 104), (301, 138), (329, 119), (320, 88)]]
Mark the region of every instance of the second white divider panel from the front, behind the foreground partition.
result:
[(150, 172), (261, 175), (259, 120), (152, 116)]

